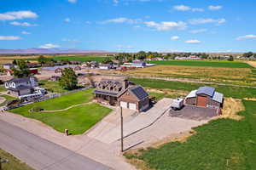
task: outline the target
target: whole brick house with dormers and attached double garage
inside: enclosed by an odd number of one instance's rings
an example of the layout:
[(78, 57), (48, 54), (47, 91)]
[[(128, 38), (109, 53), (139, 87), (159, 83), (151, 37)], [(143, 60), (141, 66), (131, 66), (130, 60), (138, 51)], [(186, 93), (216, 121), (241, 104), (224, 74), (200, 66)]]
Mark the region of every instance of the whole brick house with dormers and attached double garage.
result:
[(102, 80), (94, 93), (100, 103), (120, 105), (133, 111), (144, 111), (149, 107), (148, 93), (128, 80)]

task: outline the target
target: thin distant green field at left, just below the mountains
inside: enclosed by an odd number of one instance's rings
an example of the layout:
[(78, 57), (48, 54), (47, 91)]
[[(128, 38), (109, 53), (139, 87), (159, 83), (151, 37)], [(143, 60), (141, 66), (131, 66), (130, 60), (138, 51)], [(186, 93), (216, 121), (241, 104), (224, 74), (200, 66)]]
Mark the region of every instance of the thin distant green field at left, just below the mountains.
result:
[[(70, 61), (81, 61), (81, 62), (87, 62), (87, 61), (97, 61), (102, 62), (106, 57), (104, 56), (92, 56), (92, 55), (83, 55), (83, 56), (55, 56), (55, 57), (49, 57), (50, 59), (55, 59), (55, 61), (61, 61), (61, 60), (70, 60)], [(28, 60), (37, 60), (35, 58)]]

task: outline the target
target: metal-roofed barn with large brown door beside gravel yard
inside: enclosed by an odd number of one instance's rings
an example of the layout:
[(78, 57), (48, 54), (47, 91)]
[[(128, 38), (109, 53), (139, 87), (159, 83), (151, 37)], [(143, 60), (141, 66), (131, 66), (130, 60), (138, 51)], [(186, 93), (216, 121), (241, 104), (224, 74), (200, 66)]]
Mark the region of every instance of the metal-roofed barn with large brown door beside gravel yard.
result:
[(185, 99), (185, 104), (219, 109), (223, 107), (224, 94), (216, 92), (215, 88), (201, 87), (193, 90)]

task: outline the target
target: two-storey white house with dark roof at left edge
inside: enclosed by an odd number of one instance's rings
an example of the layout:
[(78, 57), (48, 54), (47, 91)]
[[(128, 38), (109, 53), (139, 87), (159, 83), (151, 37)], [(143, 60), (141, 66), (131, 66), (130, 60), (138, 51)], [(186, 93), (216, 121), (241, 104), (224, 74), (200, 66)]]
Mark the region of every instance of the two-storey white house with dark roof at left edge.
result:
[(33, 88), (38, 87), (38, 79), (36, 77), (13, 78), (5, 82), (4, 86), (10, 94), (15, 96), (32, 94)]

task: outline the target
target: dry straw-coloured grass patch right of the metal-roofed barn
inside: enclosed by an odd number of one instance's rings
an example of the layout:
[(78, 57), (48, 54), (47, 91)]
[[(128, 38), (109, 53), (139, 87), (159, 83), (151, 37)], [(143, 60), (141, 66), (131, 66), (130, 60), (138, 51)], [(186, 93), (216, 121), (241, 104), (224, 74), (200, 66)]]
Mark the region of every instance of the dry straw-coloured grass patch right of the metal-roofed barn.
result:
[(225, 98), (224, 108), (220, 117), (240, 120), (242, 116), (237, 115), (237, 113), (244, 110), (241, 99)]

